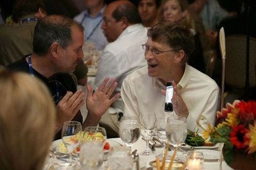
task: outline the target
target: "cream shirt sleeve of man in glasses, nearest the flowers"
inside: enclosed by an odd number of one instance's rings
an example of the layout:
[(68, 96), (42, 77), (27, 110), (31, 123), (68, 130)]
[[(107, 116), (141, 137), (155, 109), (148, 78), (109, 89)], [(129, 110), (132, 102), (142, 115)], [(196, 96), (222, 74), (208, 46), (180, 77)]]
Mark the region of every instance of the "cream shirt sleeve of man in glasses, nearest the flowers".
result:
[[(217, 86), (209, 94), (203, 112), (198, 117), (192, 117), (188, 120), (189, 124), (187, 125), (190, 125), (188, 129), (191, 129), (195, 132), (199, 129), (199, 132), (202, 132), (202, 128), (206, 129), (208, 127), (208, 124), (211, 124), (214, 127), (219, 99), (219, 87)], [(197, 123), (199, 123), (202, 128), (200, 128)]]

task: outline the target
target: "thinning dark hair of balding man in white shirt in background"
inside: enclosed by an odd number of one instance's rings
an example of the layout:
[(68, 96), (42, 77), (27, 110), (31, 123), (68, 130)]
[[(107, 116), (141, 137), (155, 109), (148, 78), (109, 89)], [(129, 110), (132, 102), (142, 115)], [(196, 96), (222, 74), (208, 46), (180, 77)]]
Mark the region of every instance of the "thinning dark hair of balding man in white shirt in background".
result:
[(126, 17), (129, 23), (135, 24), (141, 22), (138, 9), (131, 2), (118, 5), (113, 11), (112, 16), (116, 21), (119, 21), (122, 17)]

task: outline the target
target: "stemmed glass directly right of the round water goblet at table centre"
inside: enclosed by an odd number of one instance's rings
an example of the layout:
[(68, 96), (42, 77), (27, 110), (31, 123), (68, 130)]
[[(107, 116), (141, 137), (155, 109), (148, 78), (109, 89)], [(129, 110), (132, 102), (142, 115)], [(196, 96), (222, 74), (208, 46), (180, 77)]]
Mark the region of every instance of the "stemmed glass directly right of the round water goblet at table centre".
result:
[(140, 114), (140, 133), (146, 140), (146, 148), (140, 155), (150, 155), (151, 151), (148, 142), (155, 135), (156, 114), (154, 112), (143, 112)]

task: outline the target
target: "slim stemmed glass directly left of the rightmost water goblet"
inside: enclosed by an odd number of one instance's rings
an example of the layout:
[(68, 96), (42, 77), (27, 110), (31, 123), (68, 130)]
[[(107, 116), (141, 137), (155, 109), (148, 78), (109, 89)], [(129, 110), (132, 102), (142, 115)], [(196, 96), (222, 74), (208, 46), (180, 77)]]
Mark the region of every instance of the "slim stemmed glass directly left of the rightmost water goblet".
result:
[[(162, 153), (159, 155), (156, 155), (156, 157), (159, 157), (159, 158), (163, 158), (164, 152), (165, 152), (165, 142), (167, 141), (166, 132), (165, 132), (166, 122), (167, 122), (167, 118), (157, 118), (156, 132), (159, 139), (163, 142)], [(166, 156), (169, 156), (169, 155), (166, 155)]]

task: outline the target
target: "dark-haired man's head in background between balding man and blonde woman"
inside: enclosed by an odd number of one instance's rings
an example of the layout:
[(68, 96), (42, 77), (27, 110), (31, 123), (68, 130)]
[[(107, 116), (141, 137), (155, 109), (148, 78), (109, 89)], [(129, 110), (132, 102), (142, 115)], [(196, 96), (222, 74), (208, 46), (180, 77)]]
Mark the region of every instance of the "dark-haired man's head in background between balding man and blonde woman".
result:
[(157, 22), (157, 13), (160, 1), (157, 0), (139, 0), (138, 11), (144, 27), (153, 27)]

